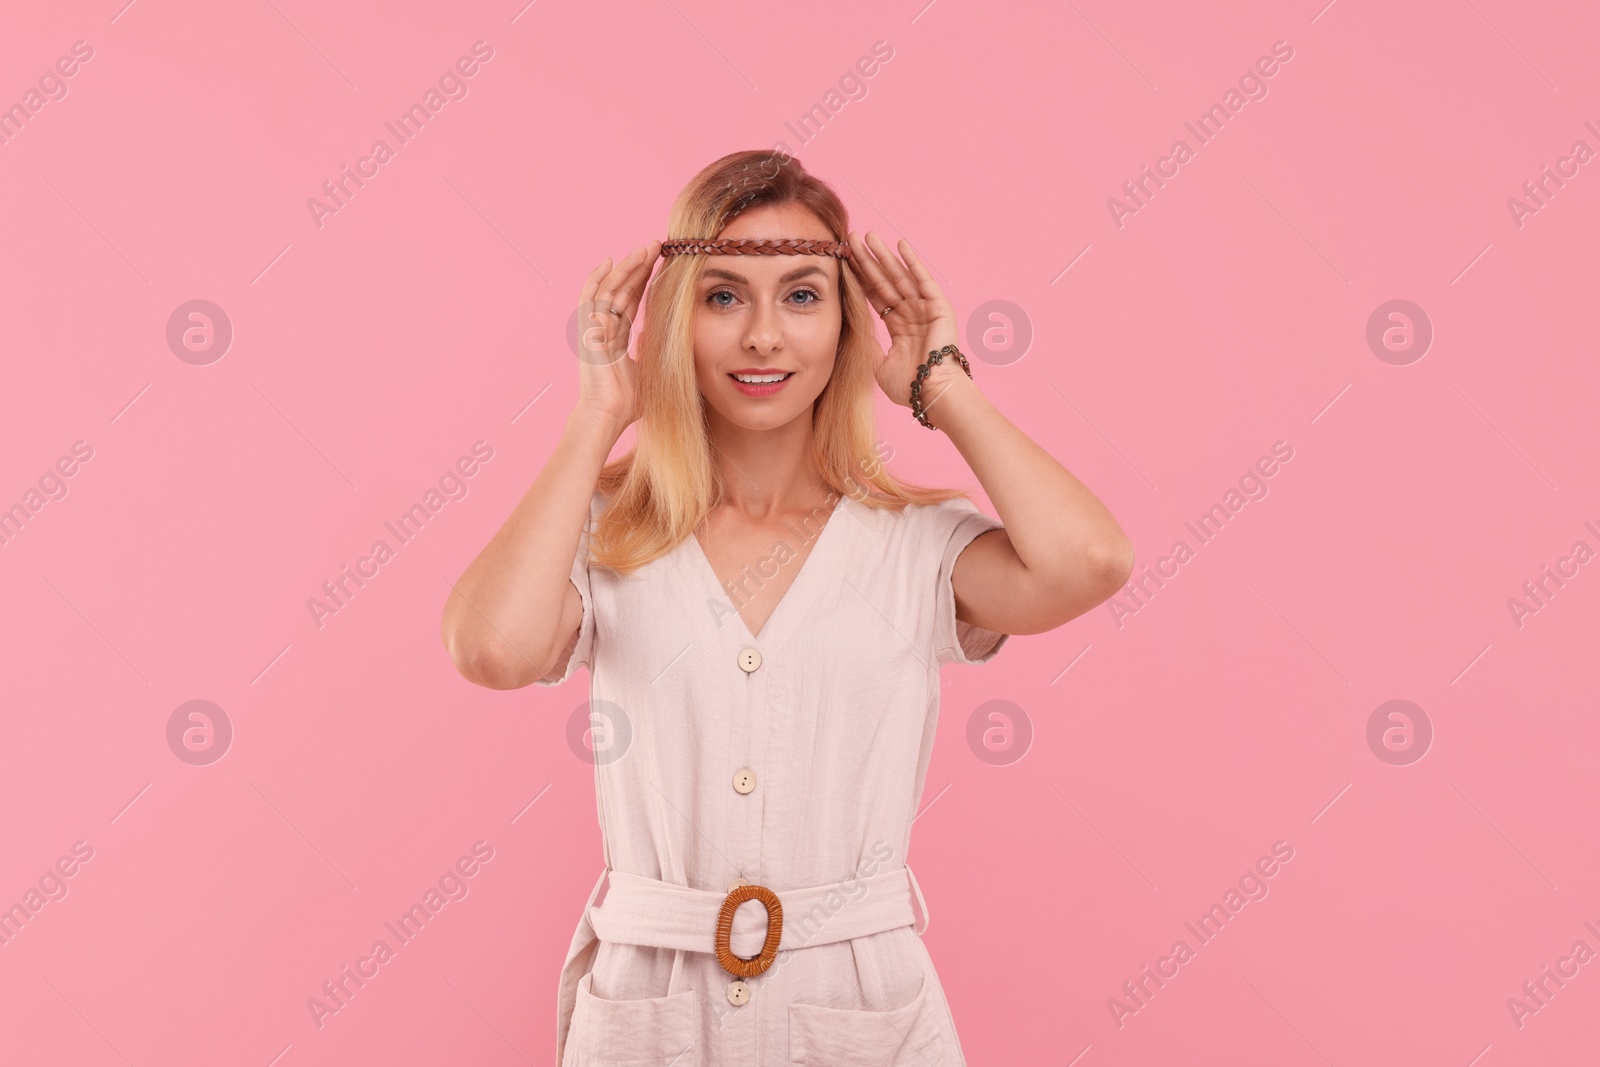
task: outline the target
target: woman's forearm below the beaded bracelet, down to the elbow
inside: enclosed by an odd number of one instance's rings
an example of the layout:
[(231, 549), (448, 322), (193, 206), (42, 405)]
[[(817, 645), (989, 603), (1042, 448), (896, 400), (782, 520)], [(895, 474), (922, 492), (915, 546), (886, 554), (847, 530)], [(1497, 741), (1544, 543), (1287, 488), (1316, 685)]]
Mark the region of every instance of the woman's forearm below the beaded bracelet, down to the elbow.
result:
[(1032, 581), (1082, 582), (1122, 571), (1133, 545), (1086, 485), (1006, 419), (954, 362), (923, 384), (928, 419), (955, 445), (994, 502)]

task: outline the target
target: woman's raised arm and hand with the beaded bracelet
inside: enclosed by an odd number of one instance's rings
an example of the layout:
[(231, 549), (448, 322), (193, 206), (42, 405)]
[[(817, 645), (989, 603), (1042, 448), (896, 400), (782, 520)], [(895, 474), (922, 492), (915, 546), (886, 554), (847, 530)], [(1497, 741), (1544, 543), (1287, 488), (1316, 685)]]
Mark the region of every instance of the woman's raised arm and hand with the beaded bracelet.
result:
[[(878, 386), (910, 406), (928, 352), (957, 344), (955, 312), (910, 242), (899, 256), (877, 234), (850, 234), (851, 270), (883, 315), (891, 344)], [(904, 256), (904, 261), (901, 259)], [(928, 419), (982, 483), (1005, 530), (979, 534), (957, 558), (955, 617), (998, 633), (1042, 633), (1117, 592), (1133, 571), (1133, 542), (1106, 506), (982, 395), (950, 358), (922, 384)]]

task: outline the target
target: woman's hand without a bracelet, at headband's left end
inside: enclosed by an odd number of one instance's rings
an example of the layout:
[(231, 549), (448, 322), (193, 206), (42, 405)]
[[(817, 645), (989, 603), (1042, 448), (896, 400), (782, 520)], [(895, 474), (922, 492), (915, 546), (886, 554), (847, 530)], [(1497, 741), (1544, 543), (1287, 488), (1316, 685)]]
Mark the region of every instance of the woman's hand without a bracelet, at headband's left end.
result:
[(651, 242), (616, 266), (603, 259), (578, 299), (578, 406), (619, 434), (640, 416), (638, 360), (627, 342), (659, 256), (661, 242)]

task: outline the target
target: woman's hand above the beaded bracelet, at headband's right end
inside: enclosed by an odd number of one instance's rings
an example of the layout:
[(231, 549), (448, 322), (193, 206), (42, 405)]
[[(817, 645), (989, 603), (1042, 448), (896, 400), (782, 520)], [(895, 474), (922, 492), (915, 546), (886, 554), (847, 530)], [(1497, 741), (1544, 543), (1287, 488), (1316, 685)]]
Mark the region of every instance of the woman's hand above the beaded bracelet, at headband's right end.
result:
[[(874, 368), (874, 376), (890, 400), (909, 408), (910, 384), (928, 354), (960, 342), (955, 309), (904, 237), (899, 256), (874, 230), (866, 235), (851, 232), (848, 238), (850, 266), (866, 290), (867, 302), (890, 328), (890, 349)], [(883, 315), (885, 307), (894, 310)], [(954, 365), (954, 360), (934, 365), (930, 373), (944, 371), (946, 365)]]

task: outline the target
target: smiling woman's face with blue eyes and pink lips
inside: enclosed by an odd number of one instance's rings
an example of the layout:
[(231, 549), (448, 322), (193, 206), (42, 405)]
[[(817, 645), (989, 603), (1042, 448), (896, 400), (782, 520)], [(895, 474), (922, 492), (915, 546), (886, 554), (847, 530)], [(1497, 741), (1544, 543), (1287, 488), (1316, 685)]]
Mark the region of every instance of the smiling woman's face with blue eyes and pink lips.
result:
[[(803, 206), (754, 208), (717, 237), (834, 235)], [(840, 270), (834, 256), (712, 256), (694, 307), (694, 376), (712, 411), (768, 430), (811, 414), (838, 352)]]

